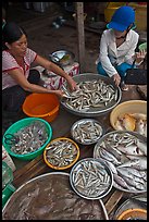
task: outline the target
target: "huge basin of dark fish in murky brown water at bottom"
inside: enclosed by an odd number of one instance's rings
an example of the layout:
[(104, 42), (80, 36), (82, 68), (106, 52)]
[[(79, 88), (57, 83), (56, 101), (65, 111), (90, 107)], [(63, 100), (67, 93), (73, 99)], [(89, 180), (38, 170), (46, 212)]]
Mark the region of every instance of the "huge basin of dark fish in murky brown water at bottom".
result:
[[(16, 210), (17, 209), (17, 210)], [(104, 220), (102, 200), (86, 200), (74, 193), (70, 174), (50, 172), (34, 177), (10, 197), (2, 220)]]

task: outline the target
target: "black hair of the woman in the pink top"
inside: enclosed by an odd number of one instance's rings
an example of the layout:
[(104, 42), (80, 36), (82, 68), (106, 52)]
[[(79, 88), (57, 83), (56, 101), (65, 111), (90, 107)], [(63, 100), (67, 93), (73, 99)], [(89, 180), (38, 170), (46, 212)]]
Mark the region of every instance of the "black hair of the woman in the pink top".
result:
[(17, 41), (23, 34), (26, 36), (25, 30), (16, 23), (5, 23), (2, 29), (2, 49), (7, 49), (5, 42), (13, 44), (14, 41)]

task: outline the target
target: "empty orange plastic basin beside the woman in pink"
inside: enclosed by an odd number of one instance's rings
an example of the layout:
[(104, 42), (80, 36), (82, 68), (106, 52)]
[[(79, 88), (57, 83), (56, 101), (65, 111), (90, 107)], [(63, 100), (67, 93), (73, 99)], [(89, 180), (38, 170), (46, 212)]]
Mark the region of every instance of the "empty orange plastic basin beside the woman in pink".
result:
[(23, 103), (23, 112), (28, 116), (41, 118), (52, 122), (60, 108), (60, 101), (54, 94), (30, 94)]

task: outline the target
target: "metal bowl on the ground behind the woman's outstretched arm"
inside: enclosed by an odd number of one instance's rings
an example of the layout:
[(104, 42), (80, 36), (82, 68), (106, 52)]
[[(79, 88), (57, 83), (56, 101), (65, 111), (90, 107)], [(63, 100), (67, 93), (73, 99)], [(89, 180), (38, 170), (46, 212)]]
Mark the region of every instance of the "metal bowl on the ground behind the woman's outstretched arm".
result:
[(52, 62), (65, 66), (74, 62), (75, 54), (67, 50), (59, 50), (49, 54), (49, 58)]

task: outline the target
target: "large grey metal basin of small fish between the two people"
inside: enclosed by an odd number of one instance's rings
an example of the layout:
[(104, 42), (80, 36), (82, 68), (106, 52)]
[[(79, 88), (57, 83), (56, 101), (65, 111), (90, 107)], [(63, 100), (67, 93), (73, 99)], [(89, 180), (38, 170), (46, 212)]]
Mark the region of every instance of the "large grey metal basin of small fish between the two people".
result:
[(121, 100), (122, 91), (114, 82), (99, 74), (84, 73), (73, 76), (77, 83), (77, 90), (71, 92), (66, 83), (62, 85), (67, 90), (67, 97), (61, 104), (69, 112), (79, 116), (99, 116), (109, 112)]

